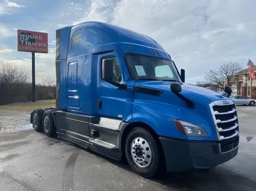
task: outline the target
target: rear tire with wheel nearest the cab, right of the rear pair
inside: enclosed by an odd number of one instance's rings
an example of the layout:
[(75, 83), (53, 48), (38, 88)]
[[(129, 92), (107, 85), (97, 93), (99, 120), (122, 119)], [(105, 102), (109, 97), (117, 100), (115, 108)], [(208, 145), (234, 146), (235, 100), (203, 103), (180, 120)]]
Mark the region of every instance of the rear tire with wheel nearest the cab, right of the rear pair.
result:
[(56, 135), (56, 127), (52, 117), (52, 111), (50, 109), (44, 112), (42, 117), (42, 129), (44, 134), (48, 137), (53, 137)]

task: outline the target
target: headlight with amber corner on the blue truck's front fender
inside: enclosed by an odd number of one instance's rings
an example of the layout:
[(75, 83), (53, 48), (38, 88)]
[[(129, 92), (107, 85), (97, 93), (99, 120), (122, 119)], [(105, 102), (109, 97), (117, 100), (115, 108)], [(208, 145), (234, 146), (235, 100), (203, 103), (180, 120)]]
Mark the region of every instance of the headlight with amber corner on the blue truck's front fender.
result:
[(195, 125), (195, 124), (189, 123), (189, 122), (185, 122), (182, 120), (177, 120), (177, 119), (174, 119), (174, 123), (175, 123), (177, 129), (179, 129), (179, 131), (181, 131), (182, 133), (184, 133), (187, 136), (208, 137), (207, 133), (204, 131), (204, 129), (198, 125)]

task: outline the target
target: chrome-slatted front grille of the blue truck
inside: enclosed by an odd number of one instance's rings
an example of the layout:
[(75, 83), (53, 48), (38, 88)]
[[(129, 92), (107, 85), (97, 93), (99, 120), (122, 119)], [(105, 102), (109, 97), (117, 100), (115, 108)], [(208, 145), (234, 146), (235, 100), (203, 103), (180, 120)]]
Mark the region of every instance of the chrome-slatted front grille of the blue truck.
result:
[(210, 103), (218, 140), (231, 139), (239, 135), (236, 106), (232, 100), (218, 100)]

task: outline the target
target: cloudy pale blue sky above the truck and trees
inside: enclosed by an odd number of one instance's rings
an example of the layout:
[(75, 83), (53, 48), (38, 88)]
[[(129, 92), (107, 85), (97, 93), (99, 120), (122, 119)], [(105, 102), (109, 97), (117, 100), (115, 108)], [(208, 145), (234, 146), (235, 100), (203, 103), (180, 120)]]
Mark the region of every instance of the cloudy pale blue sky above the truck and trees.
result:
[(31, 70), (31, 53), (17, 51), (17, 29), (48, 33), (49, 53), (36, 53), (36, 83), (55, 77), (55, 30), (96, 20), (149, 35), (202, 81), (222, 63), (256, 63), (255, 0), (0, 0), (0, 64)]

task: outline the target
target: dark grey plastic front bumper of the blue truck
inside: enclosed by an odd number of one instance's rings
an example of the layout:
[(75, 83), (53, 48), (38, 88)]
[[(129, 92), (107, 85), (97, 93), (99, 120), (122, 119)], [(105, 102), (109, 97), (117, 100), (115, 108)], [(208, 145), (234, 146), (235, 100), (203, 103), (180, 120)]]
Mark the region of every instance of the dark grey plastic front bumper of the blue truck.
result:
[(228, 142), (189, 141), (160, 137), (168, 172), (213, 168), (237, 155), (239, 136)]

